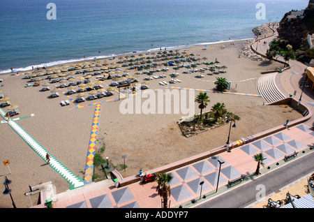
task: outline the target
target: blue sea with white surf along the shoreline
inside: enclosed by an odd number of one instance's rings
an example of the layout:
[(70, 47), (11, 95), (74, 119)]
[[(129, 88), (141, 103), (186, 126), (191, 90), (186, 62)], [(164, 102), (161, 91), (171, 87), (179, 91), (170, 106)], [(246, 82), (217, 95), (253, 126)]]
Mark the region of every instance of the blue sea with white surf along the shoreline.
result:
[(0, 74), (254, 38), (308, 0), (1, 0)]

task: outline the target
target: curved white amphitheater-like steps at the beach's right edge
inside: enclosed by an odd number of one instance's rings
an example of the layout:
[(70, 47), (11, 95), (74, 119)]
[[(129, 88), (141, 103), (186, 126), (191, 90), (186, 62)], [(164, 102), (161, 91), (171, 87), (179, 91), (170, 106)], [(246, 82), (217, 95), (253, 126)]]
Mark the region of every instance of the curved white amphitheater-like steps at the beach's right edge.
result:
[(276, 87), (276, 73), (264, 74), (257, 80), (257, 91), (262, 95), (267, 103), (273, 103), (282, 98), (285, 98), (283, 93)]

